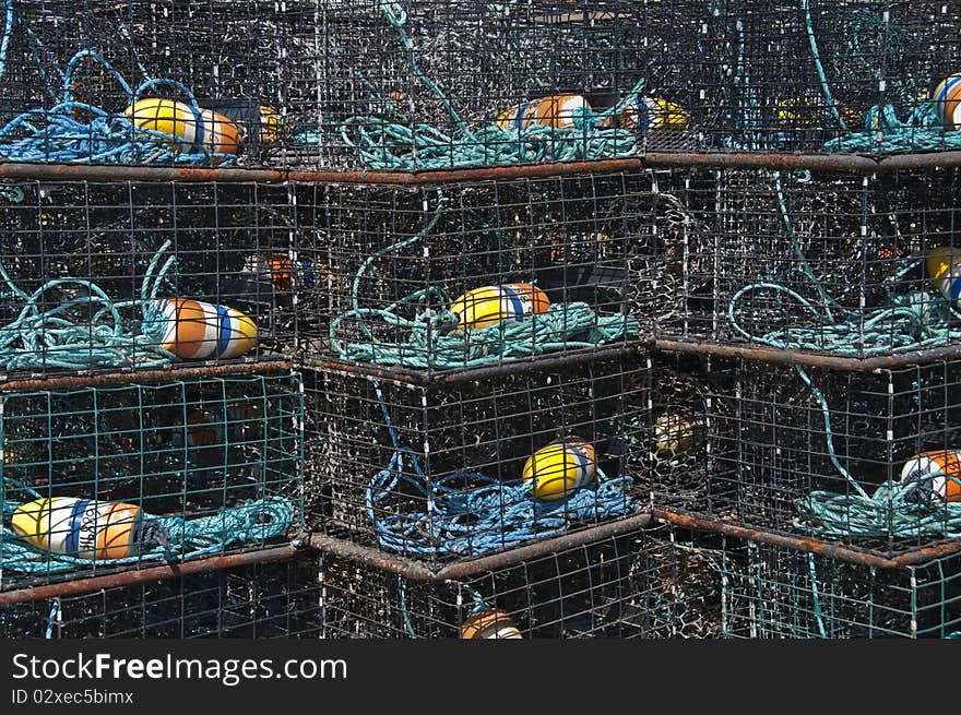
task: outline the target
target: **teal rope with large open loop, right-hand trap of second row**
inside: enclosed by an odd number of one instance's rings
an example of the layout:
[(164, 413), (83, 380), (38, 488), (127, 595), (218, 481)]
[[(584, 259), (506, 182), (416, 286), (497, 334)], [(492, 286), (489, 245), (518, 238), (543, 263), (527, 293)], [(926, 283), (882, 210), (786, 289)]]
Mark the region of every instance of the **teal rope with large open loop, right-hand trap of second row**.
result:
[[(807, 180), (802, 178), (802, 180)], [(948, 326), (952, 318), (961, 318), (940, 294), (933, 290), (912, 290), (895, 296), (888, 288), (888, 303), (871, 310), (849, 310), (840, 306), (827, 293), (815, 274), (797, 240), (787, 213), (781, 174), (774, 174), (774, 189), (791, 246), (797, 257), (800, 273), (816, 289), (820, 305), (815, 305), (795, 290), (773, 282), (752, 283), (740, 288), (727, 305), (727, 320), (734, 330), (747, 339), (778, 348), (827, 350), (842, 355), (871, 355), (897, 349), (921, 349), (930, 345), (944, 345), (961, 338), (961, 330)], [(893, 285), (905, 274), (923, 264), (912, 260), (888, 279)], [(794, 300), (805, 312), (812, 315), (814, 327), (791, 327), (755, 334), (738, 322), (739, 303), (757, 293), (770, 291)]]

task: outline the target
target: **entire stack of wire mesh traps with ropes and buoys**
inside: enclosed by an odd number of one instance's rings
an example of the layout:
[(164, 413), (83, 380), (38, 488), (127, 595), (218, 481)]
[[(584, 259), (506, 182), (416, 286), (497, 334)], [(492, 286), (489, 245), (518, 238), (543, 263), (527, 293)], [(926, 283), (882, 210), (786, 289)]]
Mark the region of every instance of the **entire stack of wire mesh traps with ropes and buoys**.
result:
[(961, 630), (954, 3), (3, 8), (4, 634)]

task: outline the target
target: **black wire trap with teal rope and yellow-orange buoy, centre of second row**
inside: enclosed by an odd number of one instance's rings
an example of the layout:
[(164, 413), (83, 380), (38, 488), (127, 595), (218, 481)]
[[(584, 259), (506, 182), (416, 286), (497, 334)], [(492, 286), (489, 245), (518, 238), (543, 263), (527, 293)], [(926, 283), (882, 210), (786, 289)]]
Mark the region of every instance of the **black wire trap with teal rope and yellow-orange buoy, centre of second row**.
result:
[(305, 360), (385, 373), (640, 343), (696, 242), (655, 172), (304, 188), (297, 222)]

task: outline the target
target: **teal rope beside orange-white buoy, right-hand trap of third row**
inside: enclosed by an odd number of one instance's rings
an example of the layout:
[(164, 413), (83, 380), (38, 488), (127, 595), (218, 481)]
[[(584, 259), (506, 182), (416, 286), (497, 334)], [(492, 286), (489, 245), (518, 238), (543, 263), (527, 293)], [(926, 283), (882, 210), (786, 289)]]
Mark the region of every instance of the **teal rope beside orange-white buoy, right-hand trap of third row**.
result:
[[(834, 431), (831, 428), (831, 412), (824, 394), (811, 382), (803, 368), (795, 366), (794, 369), (821, 407), (828, 456), (854, 491), (854, 493), (812, 491), (795, 502), (800, 515), (794, 520), (794, 525), (833, 538), (961, 536), (961, 502), (928, 499), (916, 482), (886, 481), (874, 494), (868, 496), (838, 460), (834, 451)], [(942, 473), (932, 473), (929, 476), (932, 478), (944, 476), (952, 481), (959, 481)]]

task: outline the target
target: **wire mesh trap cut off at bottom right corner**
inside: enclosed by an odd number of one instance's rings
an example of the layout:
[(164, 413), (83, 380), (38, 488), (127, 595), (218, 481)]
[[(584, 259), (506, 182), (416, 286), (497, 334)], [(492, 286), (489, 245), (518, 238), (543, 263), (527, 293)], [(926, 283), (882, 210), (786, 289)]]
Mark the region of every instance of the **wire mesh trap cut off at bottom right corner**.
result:
[(958, 637), (961, 557), (877, 569), (726, 540), (724, 634), (751, 639)]

